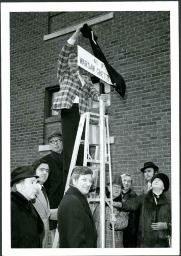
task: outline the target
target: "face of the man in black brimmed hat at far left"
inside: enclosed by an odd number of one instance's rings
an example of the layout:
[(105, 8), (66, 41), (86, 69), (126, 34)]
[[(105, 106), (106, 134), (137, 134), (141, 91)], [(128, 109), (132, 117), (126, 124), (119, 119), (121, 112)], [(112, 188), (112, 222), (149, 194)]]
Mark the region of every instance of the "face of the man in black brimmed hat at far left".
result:
[(34, 199), (37, 193), (36, 178), (27, 178), (24, 182), (20, 183), (20, 193), (28, 200)]

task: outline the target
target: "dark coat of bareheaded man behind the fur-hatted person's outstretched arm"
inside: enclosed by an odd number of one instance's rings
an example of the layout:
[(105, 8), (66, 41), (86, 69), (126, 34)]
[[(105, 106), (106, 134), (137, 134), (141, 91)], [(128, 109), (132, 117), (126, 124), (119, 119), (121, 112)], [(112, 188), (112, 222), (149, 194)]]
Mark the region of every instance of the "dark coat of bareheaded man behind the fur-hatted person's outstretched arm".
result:
[[(123, 201), (126, 201), (128, 199), (137, 197), (137, 194), (132, 189), (129, 189), (127, 193), (122, 193), (122, 196)], [(123, 229), (123, 244), (125, 248), (137, 247), (139, 217), (139, 210), (129, 212), (128, 225)]]

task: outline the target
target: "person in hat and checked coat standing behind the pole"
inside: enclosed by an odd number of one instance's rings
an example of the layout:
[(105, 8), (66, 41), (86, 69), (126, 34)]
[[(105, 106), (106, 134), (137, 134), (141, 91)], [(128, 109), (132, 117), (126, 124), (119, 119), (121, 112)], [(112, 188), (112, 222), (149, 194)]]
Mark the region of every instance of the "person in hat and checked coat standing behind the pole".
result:
[[(112, 198), (115, 202), (121, 202), (123, 183), (121, 177), (115, 175), (112, 177)], [(107, 184), (108, 193), (106, 193), (107, 198), (110, 198), (110, 183)], [(123, 231), (122, 229), (128, 225), (128, 212), (120, 211), (117, 207), (114, 207), (114, 214), (111, 214), (111, 209), (106, 203), (105, 207), (105, 218), (106, 218), (106, 248), (112, 248), (112, 225), (115, 226), (115, 247), (120, 248), (123, 246)], [(98, 232), (97, 247), (100, 247), (100, 204), (97, 205), (94, 211), (94, 219)]]

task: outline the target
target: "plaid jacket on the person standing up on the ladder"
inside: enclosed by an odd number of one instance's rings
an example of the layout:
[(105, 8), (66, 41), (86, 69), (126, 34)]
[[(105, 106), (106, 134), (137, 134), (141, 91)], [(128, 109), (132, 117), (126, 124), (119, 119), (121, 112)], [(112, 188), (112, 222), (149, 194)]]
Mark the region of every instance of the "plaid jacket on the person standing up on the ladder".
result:
[(85, 81), (85, 85), (81, 87), (78, 73), (68, 67), (68, 57), (72, 48), (73, 46), (66, 42), (59, 54), (57, 77), (60, 91), (53, 102), (52, 109), (55, 111), (70, 109), (77, 95), (79, 97), (79, 114), (81, 115), (89, 110), (88, 96), (99, 101), (99, 95), (88, 76), (81, 75)]

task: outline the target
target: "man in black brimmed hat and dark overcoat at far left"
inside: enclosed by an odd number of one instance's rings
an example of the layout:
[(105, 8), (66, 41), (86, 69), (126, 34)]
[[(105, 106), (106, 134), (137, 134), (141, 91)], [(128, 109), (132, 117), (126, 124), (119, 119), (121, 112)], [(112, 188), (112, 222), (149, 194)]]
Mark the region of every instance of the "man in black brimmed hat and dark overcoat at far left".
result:
[(11, 173), (11, 248), (41, 248), (44, 225), (31, 203), (37, 178), (31, 166), (20, 166)]

